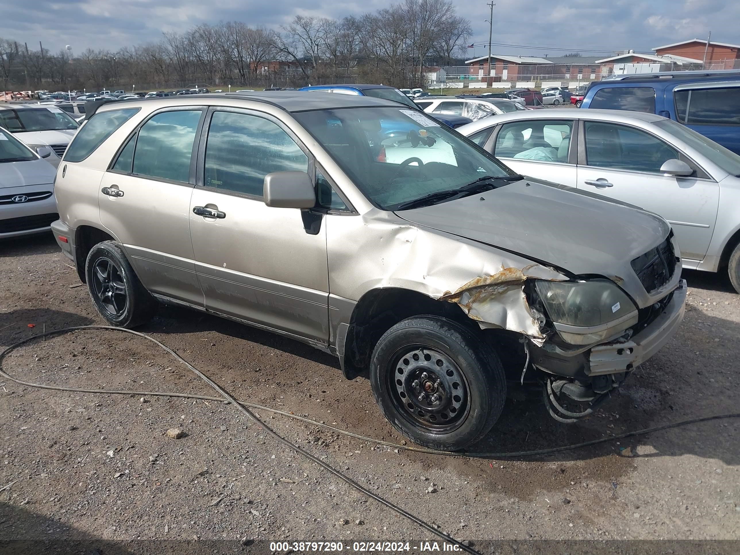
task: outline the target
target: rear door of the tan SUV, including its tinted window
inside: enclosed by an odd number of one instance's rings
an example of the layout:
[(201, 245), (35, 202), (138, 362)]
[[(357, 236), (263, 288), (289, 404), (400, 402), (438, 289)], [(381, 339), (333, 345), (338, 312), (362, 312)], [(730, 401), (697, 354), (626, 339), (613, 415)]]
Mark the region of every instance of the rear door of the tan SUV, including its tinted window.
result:
[(204, 112), (178, 107), (152, 115), (118, 153), (98, 192), (101, 223), (123, 243), (141, 283), (195, 306), (203, 306), (203, 293), (190, 241), (191, 161)]

